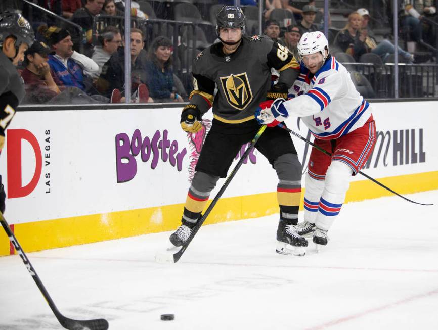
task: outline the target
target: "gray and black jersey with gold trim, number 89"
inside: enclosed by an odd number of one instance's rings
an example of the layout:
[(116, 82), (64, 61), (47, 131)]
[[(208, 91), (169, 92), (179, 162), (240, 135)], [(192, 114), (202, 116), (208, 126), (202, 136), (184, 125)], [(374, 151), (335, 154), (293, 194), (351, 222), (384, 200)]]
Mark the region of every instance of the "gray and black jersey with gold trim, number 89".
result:
[(254, 119), (255, 110), (271, 89), (271, 68), (280, 75), (287, 69), (299, 72), (288, 49), (265, 35), (244, 36), (230, 55), (223, 53), (221, 42), (215, 43), (193, 61), (190, 103), (202, 114), (212, 106), (214, 118), (225, 123)]

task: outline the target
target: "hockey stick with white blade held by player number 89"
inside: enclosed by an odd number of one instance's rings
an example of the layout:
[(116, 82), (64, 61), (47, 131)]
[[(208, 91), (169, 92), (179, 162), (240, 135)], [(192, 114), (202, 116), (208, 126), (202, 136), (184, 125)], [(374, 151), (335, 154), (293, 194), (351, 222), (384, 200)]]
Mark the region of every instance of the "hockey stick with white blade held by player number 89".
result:
[(211, 204), (205, 210), (205, 213), (196, 222), (196, 225), (193, 227), (192, 233), (190, 234), (190, 236), (187, 239), (187, 241), (182, 245), (181, 249), (178, 252), (174, 253), (172, 255), (171, 259), (163, 257), (163, 259), (158, 260), (157, 256), (155, 256), (155, 259), (157, 261), (159, 261), (159, 262), (173, 262), (173, 263), (176, 263), (176, 262), (178, 262), (178, 260), (180, 260), (180, 258), (183, 255), (184, 251), (186, 251), (186, 249), (189, 246), (190, 242), (192, 242), (193, 238), (195, 237), (196, 233), (198, 232), (199, 228), (202, 226), (202, 224), (204, 223), (205, 219), (208, 217), (208, 215), (210, 214), (211, 210), (216, 205), (217, 201), (221, 198), (222, 194), (224, 194), (226, 188), (230, 184), (230, 182), (233, 179), (233, 177), (236, 175), (236, 173), (239, 170), (240, 166), (242, 166), (243, 161), (248, 156), (248, 154), (251, 152), (251, 150), (254, 149), (255, 144), (257, 143), (258, 139), (260, 138), (261, 134), (265, 131), (265, 129), (266, 129), (266, 125), (263, 125), (263, 126), (260, 127), (260, 129), (258, 130), (257, 134), (255, 134), (255, 136), (251, 140), (251, 144), (246, 149), (245, 153), (240, 157), (240, 160), (237, 162), (236, 166), (231, 171), (230, 175), (228, 175), (228, 177), (225, 180), (224, 184), (222, 185), (221, 189), (217, 192), (216, 196), (211, 201)]

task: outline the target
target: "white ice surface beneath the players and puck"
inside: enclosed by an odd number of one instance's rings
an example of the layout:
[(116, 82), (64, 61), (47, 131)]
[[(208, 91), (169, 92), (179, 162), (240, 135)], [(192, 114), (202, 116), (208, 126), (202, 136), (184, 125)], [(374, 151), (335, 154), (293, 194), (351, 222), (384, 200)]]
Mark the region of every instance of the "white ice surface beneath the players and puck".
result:
[[(154, 262), (169, 232), (28, 257), (61, 313), (110, 329), (438, 329), (438, 191), (407, 197), (435, 205), (345, 204), (304, 257), (275, 253), (277, 215), (202, 227), (177, 264)], [(20, 257), (1, 257), (0, 329), (61, 328)]]

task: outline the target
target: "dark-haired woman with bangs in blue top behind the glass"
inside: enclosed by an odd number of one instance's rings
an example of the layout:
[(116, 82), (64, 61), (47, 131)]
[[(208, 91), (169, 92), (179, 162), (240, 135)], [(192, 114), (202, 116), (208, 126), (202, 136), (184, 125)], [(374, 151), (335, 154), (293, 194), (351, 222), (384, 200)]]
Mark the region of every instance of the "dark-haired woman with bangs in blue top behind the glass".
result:
[(171, 46), (172, 42), (168, 38), (158, 36), (148, 51), (148, 86), (155, 102), (184, 102), (183, 97), (174, 91)]

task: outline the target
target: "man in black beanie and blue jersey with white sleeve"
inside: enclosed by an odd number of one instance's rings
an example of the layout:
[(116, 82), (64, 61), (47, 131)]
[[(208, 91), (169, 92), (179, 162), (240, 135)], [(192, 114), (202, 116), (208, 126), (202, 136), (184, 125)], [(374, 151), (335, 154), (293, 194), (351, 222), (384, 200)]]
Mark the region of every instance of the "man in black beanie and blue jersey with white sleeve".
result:
[(38, 28), (45, 35), (54, 55), (49, 55), (49, 65), (53, 73), (64, 86), (77, 87), (96, 100), (107, 102), (108, 99), (98, 95), (90, 79), (86, 76), (96, 74), (99, 66), (85, 55), (73, 51), (73, 42), (67, 29), (56, 26)]

